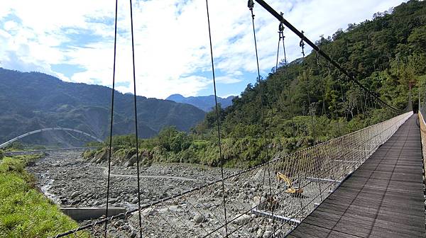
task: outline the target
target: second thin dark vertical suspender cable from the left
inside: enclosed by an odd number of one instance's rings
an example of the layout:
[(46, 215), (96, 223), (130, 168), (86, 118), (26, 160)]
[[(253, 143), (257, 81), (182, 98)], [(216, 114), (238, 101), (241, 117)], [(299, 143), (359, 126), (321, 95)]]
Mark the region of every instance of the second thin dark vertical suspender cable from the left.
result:
[(138, 110), (136, 102), (136, 73), (135, 73), (135, 44), (133, 37), (133, 7), (130, 0), (130, 23), (131, 23), (131, 54), (133, 62), (133, 106), (135, 111), (135, 134), (136, 134), (136, 172), (138, 173), (138, 215), (139, 234), (142, 238), (142, 216), (141, 216), (141, 178), (139, 174), (139, 142), (138, 142)]

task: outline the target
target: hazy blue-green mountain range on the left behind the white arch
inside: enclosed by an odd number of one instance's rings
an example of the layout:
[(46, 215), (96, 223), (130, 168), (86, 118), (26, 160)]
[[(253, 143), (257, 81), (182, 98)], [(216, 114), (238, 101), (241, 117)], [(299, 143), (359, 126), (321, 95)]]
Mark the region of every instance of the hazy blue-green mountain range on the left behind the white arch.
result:
[[(139, 135), (144, 138), (169, 125), (189, 131), (205, 115), (195, 106), (183, 103), (143, 96), (137, 100)], [(109, 135), (110, 101), (111, 89), (105, 86), (68, 83), (47, 74), (0, 68), (0, 141), (56, 126), (104, 139)], [(116, 92), (114, 111), (114, 134), (132, 133), (133, 95)], [(46, 142), (40, 136), (31, 139), (40, 144)], [(68, 140), (70, 136), (62, 139)]]

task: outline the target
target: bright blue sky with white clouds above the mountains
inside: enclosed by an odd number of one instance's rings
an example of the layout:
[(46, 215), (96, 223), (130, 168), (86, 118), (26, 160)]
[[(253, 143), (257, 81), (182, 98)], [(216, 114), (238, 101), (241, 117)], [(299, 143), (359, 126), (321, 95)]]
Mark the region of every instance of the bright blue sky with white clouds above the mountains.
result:
[[(401, 0), (267, 0), (310, 40), (398, 6)], [(43, 72), (63, 81), (112, 86), (114, 0), (0, 1), (0, 67)], [(275, 67), (278, 20), (255, 3), (261, 75)], [(239, 95), (256, 82), (246, 0), (210, 0), (218, 96)], [(133, 92), (129, 1), (119, 0), (116, 89)], [(212, 95), (206, 1), (133, 0), (136, 94), (148, 98)], [(300, 39), (285, 29), (288, 60)], [(307, 47), (307, 52), (310, 51)], [(280, 53), (280, 59), (283, 53)]]

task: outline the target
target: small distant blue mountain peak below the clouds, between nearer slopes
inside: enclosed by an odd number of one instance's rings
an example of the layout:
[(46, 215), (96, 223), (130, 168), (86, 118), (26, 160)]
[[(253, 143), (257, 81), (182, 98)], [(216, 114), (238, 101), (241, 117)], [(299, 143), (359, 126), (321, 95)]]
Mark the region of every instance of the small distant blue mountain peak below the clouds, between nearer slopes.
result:
[[(234, 99), (234, 96), (229, 96), (226, 98), (217, 97), (217, 103), (220, 103), (222, 108), (227, 108), (231, 106), (232, 99)], [(175, 101), (177, 103), (191, 104), (205, 112), (212, 111), (212, 108), (214, 108), (215, 105), (214, 95), (184, 97), (180, 94), (172, 94), (168, 96), (168, 98), (165, 98), (165, 100)]]

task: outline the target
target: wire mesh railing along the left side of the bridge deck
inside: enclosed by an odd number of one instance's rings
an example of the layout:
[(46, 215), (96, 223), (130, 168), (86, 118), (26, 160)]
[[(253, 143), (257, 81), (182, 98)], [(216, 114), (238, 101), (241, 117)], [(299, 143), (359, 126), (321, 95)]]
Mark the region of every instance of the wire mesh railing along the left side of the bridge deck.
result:
[[(142, 205), (143, 237), (284, 237), (412, 114), (293, 154), (276, 154), (271, 162)], [(56, 237), (102, 237), (106, 221), (108, 237), (138, 237), (137, 212), (88, 222)]]

